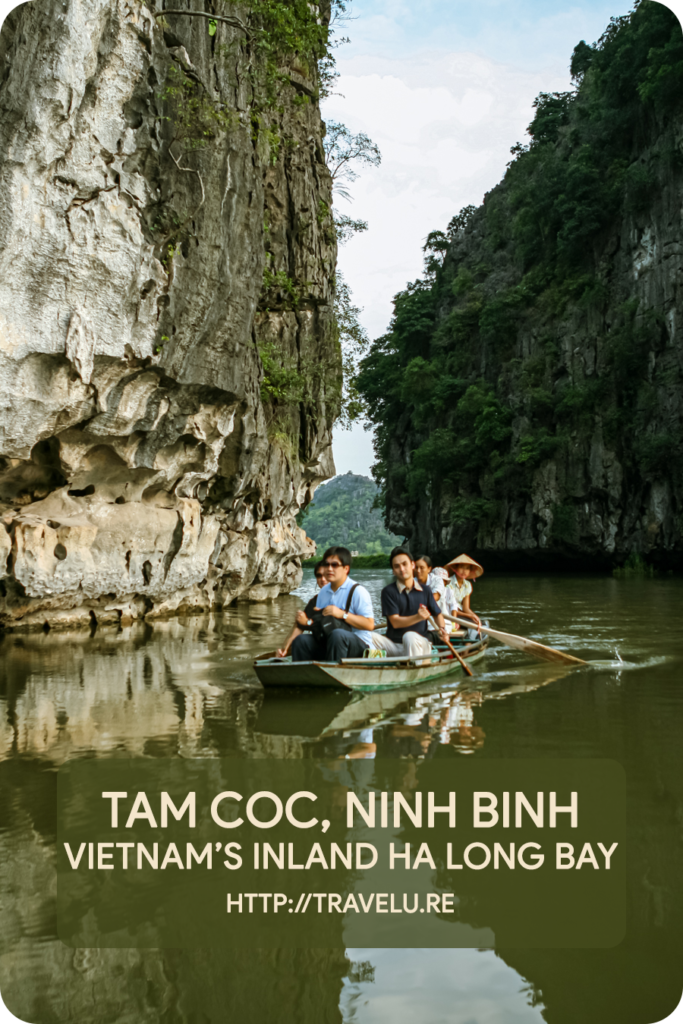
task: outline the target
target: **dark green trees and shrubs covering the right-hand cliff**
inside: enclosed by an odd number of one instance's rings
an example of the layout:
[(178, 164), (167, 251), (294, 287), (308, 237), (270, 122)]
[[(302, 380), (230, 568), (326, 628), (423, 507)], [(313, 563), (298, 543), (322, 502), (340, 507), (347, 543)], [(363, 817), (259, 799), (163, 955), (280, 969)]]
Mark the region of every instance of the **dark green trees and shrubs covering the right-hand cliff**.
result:
[[(679, 360), (653, 372), (669, 307), (658, 286), (633, 285), (655, 252), (652, 205), (676, 195), (683, 167), (683, 28), (641, 0), (575, 47), (571, 73), (574, 90), (537, 98), (530, 140), (483, 206), (428, 236), (424, 279), (395, 297), (361, 364), (387, 523), (420, 546), (444, 546), (445, 529), (501, 548), (516, 517), (520, 548), (585, 550), (596, 509), (571, 477), (598, 435), (627, 483), (667, 469), (683, 503), (683, 431), (663, 397), (680, 392)], [(631, 281), (614, 270), (629, 232)], [(543, 497), (550, 463), (559, 482)], [(680, 514), (672, 523), (683, 537)]]

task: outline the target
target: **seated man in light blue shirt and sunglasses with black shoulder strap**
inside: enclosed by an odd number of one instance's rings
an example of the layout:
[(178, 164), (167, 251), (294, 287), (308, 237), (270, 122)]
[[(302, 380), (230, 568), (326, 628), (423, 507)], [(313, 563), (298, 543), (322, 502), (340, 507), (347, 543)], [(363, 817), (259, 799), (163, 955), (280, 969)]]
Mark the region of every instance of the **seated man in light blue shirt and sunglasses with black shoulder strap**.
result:
[[(348, 548), (328, 548), (323, 555), (327, 585), (317, 595), (312, 633), (304, 633), (292, 642), (293, 662), (340, 662), (343, 657), (361, 657), (370, 647), (375, 629), (373, 602), (365, 587), (351, 580), (351, 552)], [(329, 622), (326, 624), (326, 620)], [(330, 629), (331, 621), (339, 627)]]

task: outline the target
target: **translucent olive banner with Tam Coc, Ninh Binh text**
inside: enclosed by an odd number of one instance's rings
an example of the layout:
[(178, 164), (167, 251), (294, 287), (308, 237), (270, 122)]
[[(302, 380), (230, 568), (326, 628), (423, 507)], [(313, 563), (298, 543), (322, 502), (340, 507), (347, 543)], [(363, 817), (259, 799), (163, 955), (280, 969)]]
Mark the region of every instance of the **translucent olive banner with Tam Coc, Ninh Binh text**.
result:
[(116, 760), (59, 769), (72, 946), (600, 947), (614, 761)]

